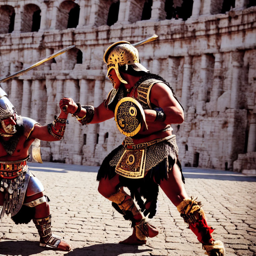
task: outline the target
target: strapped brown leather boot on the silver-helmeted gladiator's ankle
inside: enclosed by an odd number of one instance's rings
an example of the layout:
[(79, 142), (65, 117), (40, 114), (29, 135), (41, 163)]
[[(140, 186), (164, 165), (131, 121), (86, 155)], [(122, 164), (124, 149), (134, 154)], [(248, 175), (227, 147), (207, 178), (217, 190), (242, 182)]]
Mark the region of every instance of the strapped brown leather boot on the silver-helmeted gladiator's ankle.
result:
[(60, 239), (52, 236), (51, 215), (42, 219), (33, 219), (33, 222), (35, 223), (40, 236), (40, 246), (45, 247), (46, 245), (49, 245), (57, 248), (60, 243)]

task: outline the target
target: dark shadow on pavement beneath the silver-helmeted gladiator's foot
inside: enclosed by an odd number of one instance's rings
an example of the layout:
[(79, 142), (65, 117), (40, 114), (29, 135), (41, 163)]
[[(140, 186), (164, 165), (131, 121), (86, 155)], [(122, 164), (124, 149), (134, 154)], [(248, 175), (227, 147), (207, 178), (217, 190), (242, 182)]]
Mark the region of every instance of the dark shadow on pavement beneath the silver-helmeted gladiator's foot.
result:
[(50, 247), (40, 247), (39, 241), (2, 241), (0, 254), (30, 256), (43, 251), (52, 250)]

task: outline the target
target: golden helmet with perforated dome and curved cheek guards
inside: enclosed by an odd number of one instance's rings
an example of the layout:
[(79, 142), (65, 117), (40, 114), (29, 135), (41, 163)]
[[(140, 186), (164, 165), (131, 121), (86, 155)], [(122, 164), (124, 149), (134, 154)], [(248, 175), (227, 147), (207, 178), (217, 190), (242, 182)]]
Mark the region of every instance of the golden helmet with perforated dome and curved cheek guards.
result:
[(127, 82), (122, 79), (118, 70), (119, 66), (131, 65), (135, 71), (149, 71), (139, 63), (138, 50), (127, 41), (119, 41), (110, 45), (103, 55), (103, 60), (107, 64), (107, 76), (109, 71), (114, 69), (118, 79), (124, 84)]

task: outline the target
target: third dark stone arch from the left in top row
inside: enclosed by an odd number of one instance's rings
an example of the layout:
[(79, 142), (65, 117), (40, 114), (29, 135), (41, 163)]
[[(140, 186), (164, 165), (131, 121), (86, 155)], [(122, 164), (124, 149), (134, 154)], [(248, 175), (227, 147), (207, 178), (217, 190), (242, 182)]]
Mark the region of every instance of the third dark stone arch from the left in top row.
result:
[(63, 1), (57, 13), (56, 29), (76, 28), (79, 21), (80, 6), (71, 0)]

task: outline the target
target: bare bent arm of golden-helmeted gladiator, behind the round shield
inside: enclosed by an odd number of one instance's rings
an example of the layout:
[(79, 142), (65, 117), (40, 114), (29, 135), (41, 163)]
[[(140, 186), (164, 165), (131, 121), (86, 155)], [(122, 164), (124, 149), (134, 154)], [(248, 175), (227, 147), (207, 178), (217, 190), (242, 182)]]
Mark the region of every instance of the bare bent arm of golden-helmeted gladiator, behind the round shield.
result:
[[(150, 101), (164, 110), (166, 114), (165, 124), (180, 124), (184, 121), (183, 109), (166, 84), (154, 84), (151, 89)], [(156, 119), (156, 111), (145, 110), (145, 116), (146, 122), (154, 122)]]

